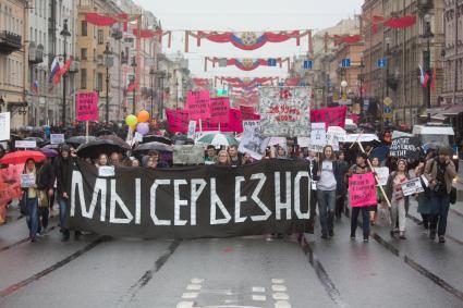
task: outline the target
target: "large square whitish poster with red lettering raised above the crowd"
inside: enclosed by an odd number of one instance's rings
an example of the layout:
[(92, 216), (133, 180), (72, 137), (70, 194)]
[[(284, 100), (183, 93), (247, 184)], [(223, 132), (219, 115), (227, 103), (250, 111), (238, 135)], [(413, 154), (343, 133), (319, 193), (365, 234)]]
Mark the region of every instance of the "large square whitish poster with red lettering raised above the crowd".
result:
[(268, 137), (308, 137), (310, 88), (260, 87), (259, 113), (263, 134)]

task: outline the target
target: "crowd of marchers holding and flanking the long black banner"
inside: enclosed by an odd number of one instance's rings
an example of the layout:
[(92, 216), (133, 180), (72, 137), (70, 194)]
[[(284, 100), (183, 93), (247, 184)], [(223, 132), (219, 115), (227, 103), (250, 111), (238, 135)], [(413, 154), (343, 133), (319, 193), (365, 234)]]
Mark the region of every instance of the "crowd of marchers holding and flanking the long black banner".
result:
[[(193, 140), (190, 140), (191, 143)], [(447, 215), (449, 212), (452, 181), (456, 176), (455, 165), (451, 160), (451, 149), (441, 147), (428, 149), (423, 152), (419, 161), (407, 159), (387, 158), (380, 161), (378, 157), (368, 156), (371, 147), (365, 150), (358, 147), (342, 145), (340, 150), (334, 151), (332, 146), (326, 146), (321, 153), (300, 148), (293, 145), (275, 145), (268, 147), (263, 159), (291, 159), (308, 161), (310, 186), (310, 224), (315, 225), (318, 217), (320, 234), (325, 239), (334, 236), (334, 222), (341, 220), (344, 213), (351, 217), (352, 241), (355, 241), (358, 224), (358, 215), (362, 212), (363, 241), (368, 242), (371, 225), (379, 219), (378, 211), (387, 212), (390, 218), (390, 234), (401, 239), (406, 238), (406, 213), (410, 198), (416, 198), (418, 212), (422, 214), (423, 227), (429, 231), (429, 237), (439, 243), (446, 242)], [(72, 160), (78, 159), (76, 151), (69, 145), (61, 145), (59, 156), (48, 158), (37, 164), (28, 159), (24, 165), (24, 173), (32, 174), (36, 178), (35, 185), (24, 188), (21, 200), (23, 212), (27, 214), (27, 226), (31, 241), (47, 233), (48, 220), (52, 214), (53, 205), (57, 204), (60, 212), (60, 225), (63, 241), (70, 238), (70, 231), (64, 229), (65, 211), (69, 208), (70, 192), (68, 187), (71, 181)], [(98, 158), (85, 158), (89, 164), (100, 167), (133, 167), (133, 168), (171, 168), (172, 163), (165, 161), (159, 151), (151, 150), (142, 157), (127, 157), (122, 152), (100, 153)], [(205, 164), (224, 167), (241, 167), (253, 163), (248, 153), (239, 152), (236, 145), (228, 147), (205, 147)], [(376, 175), (376, 169), (387, 167), (390, 171), (387, 184), (377, 189), (377, 201), (367, 207), (346, 207), (349, 199), (349, 178), (353, 174), (371, 172)], [(421, 177), (425, 187), (423, 193), (413, 196), (404, 196), (402, 184), (411, 178)], [(423, 175), (423, 176), (422, 176)], [(51, 212), (50, 212), (51, 210)], [(80, 232), (75, 234), (80, 236)]]

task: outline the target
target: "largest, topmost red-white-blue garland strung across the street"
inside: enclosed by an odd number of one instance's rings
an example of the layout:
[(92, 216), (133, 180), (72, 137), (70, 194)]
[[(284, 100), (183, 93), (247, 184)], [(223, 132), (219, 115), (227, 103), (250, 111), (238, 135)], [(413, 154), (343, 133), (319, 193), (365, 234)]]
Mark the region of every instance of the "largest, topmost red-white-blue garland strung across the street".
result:
[(292, 32), (185, 32), (185, 52), (190, 52), (190, 37), (196, 38), (197, 47), (200, 47), (202, 40), (226, 44), (230, 42), (242, 50), (256, 50), (267, 42), (284, 42), (292, 38), (296, 39), (296, 46), (301, 45), (301, 38), (308, 37), (308, 50), (312, 52), (312, 30), (292, 30)]

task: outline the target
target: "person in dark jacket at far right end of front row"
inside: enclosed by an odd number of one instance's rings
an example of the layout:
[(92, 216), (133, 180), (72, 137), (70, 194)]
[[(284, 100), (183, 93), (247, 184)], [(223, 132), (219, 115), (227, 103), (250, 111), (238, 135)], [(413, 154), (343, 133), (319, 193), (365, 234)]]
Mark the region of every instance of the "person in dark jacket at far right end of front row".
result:
[(429, 214), (429, 238), (436, 239), (436, 230), (439, 243), (446, 243), (447, 217), (450, 208), (450, 193), (452, 182), (456, 176), (455, 165), (452, 162), (451, 149), (439, 148), (438, 156), (426, 163), (425, 174), (431, 190)]

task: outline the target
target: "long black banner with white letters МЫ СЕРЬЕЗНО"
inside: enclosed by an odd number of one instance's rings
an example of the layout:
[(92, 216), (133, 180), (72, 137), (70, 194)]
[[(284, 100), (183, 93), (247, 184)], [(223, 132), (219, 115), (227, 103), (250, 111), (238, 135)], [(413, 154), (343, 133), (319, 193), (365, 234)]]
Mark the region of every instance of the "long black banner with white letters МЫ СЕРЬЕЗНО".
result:
[(117, 168), (112, 177), (75, 160), (70, 229), (111, 236), (228, 237), (309, 230), (308, 164)]

